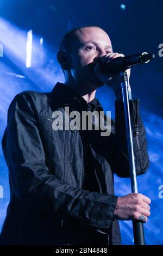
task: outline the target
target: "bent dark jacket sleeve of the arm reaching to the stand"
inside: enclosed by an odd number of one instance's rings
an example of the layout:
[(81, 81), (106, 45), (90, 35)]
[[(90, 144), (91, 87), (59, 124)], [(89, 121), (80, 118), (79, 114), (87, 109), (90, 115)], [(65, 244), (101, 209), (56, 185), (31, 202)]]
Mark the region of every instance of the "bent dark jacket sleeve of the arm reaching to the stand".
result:
[(49, 174), (36, 119), (29, 93), (16, 95), (2, 140), (15, 196), (34, 209), (57, 213), (63, 219), (108, 228), (117, 196), (74, 188)]

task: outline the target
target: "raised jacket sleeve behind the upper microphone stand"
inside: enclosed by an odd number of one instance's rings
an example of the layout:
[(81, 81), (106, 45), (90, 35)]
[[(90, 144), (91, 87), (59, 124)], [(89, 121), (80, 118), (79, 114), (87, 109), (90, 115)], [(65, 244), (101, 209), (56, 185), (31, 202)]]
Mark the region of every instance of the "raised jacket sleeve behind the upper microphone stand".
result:
[[(145, 126), (139, 111), (139, 99), (129, 100), (131, 130), (133, 134), (136, 174), (146, 173), (149, 167)], [(109, 163), (114, 173), (122, 178), (130, 177), (126, 124), (122, 100), (115, 101), (115, 124), (113, 126), (112, 150)]]

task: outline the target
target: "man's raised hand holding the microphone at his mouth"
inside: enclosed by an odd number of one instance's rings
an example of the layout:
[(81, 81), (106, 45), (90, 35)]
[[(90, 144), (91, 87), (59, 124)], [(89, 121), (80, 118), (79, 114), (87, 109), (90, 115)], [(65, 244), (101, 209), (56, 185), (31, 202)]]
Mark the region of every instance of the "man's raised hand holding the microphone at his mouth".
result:
[[(119, 72), (114, 74), (105, 73), (102, 71), (102, 64), (107, 63), (110, 59), (115, 59), (117, 57), (124, 57), (124, 54), (113, 52), (113, 53), (108, 53), (103, 57), (97, 57), (95, 59), (96, 66), (93, 69), (98, 79), (101, 80), (103, 83), (108, 84), (108, 86), (110, 86), (114, 90), (114, 93), (116, 96), (117, 94), (121, 93), (121, 90), (122, 90), (120, 73)], [(127, 75), (129, 80), (130, 69), (127, 70)], [(130, 86), (128, 89), (130, 93), (131, 92)]]

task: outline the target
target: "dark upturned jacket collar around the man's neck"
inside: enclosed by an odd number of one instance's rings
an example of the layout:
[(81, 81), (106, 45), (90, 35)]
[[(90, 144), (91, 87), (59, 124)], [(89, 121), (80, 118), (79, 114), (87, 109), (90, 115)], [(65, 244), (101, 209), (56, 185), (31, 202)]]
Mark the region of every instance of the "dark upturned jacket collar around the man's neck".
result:
[[(51, 106), (52, 110), (59, 107), (71, 106), (78, 111), (87, 111), (87, 102), (71, 88), (65, 86), (63, 83), (55, 84), (51, 92)], [(102, 107), (97, 100), (97, 107)], [(97, 108), (96, 107), (96, 108)]]

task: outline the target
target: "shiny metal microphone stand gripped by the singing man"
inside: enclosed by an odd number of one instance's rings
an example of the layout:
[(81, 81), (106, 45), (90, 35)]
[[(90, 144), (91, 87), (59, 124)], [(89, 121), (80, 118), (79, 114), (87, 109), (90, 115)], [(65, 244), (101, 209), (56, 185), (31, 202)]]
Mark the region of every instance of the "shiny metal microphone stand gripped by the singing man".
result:
[[(121, 88), (122, 88), (124, 115), (125, 115), (126, 132), (127, 132), (131, 191), (132, 193), (138, 193), (135, 157), (134, 157), (134, 149), (133, 149), (133, 136), (131, 131), (131, 120), (130, 120), (130, 110), (129, 110), (128, 76), (126, 71), (121, 72)], [(133, 221), (133, 232), (134, 232), (135, 245), (145, 245), (145, 235), (144, 235), (142, 222)]]

